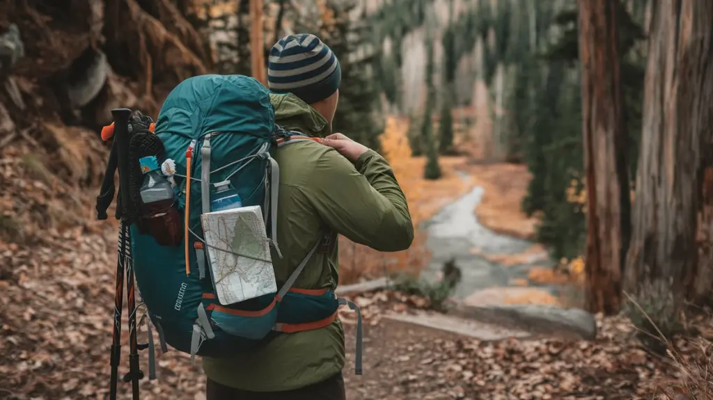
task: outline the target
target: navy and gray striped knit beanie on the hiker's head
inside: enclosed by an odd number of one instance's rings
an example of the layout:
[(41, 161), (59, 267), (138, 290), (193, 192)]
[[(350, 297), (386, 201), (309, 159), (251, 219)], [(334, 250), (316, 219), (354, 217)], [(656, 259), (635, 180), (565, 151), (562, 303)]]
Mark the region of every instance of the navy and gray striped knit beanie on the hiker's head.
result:
[(273, 93), (292, 93), (312, 104), (334, 94), (341, 80), (337, 56), (317, 36), (285, 36), (270, 49), (267, 85)]

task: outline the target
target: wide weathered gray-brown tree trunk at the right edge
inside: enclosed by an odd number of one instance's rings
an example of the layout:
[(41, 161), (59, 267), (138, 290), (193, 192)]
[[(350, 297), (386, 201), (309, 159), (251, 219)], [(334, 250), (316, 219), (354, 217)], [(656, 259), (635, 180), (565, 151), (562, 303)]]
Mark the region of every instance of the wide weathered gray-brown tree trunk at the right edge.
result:
[(679, 300), (711, 290), (713, 255), (704, 247), (699, 259), (696, 239), (699, 217), (702, 233), (713, 226), (712, 172), (707, 171), (713, 140), (712, 26), (713, 1), (652, 1), (625, 280), (632, 293), (650, 284), (670, 287), (670, 280)]

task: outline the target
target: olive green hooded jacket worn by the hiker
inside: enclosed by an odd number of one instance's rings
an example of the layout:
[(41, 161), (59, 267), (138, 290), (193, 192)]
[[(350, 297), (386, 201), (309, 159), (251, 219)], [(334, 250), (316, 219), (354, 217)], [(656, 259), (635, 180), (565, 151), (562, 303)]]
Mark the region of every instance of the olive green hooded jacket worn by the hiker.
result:
[[(294, 95), (270, 95), (277, 123), (313, 137), (329, 134), (327, 120)], [(411, 246), (414, 227), (404, 193), (386, 160), (369, 150), (354, 164), (336, 150), (304, 141), (275, 150), (279, 164), (275, 275), (284, 282), (329, 228), (379, 251)], [(337, 241), (315, 253), (294, 287), (334, 289), (339, 283)], [(344, 331), (339, 319), (319, 330), (282, 334), (265, 347), (231, 359), (203, 359), (207, 377), (247, 391), (284, 391), (342, 371)]]

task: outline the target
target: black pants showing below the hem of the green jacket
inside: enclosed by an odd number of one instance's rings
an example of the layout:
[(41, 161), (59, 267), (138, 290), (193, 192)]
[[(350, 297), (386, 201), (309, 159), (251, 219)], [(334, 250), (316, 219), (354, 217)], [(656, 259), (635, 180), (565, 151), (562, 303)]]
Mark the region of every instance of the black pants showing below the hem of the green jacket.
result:
[(288, 391), (256, 392), (223, 386), (208, 379), (206, 400), (346, 400), (344, 378), (339, 373), (329, 379)]

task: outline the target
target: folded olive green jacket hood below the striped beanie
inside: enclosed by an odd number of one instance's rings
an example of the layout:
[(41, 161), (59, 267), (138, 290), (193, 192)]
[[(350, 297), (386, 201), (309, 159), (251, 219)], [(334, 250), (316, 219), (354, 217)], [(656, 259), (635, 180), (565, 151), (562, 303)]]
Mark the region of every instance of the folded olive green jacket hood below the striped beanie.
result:
[(275, 122), (284, 130), (297, 130), (312, 137), (329, 135), (329, 122), (314, 108), (292, 93), (270, 93)]

